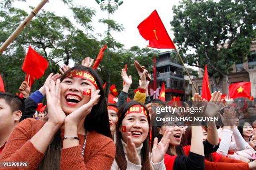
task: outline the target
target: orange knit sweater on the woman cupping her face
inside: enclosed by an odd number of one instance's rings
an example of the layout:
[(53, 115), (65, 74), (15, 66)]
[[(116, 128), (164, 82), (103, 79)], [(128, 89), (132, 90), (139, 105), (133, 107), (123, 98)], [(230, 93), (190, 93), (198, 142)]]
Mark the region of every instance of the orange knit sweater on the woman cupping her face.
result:
[[(36, 169), (44, 153), (38, 151), (30, 139), (41, 129), (44, 121), (26, 119), (20, 122), (0, 155), (0, 161), (28, 162), (28, 169)], [(64, 130), (61, 130), (61, 138)], [(115, 144), (110, 138), (92, 131), (87, 135), (84, 158), (82, 158), (82, 145), (84, 135), (78, 134), (79, 146), (61, 149), (61, 170), (107, 170), (110, 169), (115, 158)], [(81, 140), (82, 139), (82, 140)], [(44, 139), (42, 139), (44, 140)], [(22, 168), (17, 168), (21, 170)]]

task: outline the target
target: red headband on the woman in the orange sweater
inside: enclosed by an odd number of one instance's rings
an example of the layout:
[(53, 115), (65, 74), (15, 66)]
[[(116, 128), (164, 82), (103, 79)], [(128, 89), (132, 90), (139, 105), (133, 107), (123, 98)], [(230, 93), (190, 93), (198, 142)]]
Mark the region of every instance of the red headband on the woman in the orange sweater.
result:
[(77, 78), (82, 78), (84, 80), (88, 80), (96, 87), (97, 90), (99, 89), (95, 78), (89, 72), (81, 71), (81, 70), (72, 70), (68, 73), (67, 77), (77, 77)]

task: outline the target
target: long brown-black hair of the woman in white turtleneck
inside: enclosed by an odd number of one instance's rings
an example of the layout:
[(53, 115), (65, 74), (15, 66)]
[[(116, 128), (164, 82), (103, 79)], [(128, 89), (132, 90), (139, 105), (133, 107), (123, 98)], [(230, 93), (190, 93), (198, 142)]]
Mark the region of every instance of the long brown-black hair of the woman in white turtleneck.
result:
[[(118, 123), (116, 125), (116, 130), (115, 130), (115, 135), (116, 135), (116, 143), (115, 143), (115, 161), (118, 164), (118, 168), (120, 170), (126, 170), (127, 168), (127, 160), (125, 158), (125, 154), (123, 151), (123, 145), (122, 145), (122, 134), (119, 131), (122, 121), (125, 117), (125, 113), (127, 110), (133, 106), (133, 105), (141, 105), (145, 108), (146, 112), (148, 113), (148, 109), (146, 108), (145, 105), (141, 104), (140, 102), (136, 101), (129, 101), (122, 105), (120, 109), (118, 110)], [(150, 127), (150, 118), (149, 118), (149, 113), (147, 114), (147, 120), (148, 120), (148, 129)], [(143, 141), (143, 147), (141, 149), (141, 170), (151, 170), (151, 165), (150, 165), (150, 146), (149, 146), (149, 130), (148, 130), (148, 136), (146, 140)]]

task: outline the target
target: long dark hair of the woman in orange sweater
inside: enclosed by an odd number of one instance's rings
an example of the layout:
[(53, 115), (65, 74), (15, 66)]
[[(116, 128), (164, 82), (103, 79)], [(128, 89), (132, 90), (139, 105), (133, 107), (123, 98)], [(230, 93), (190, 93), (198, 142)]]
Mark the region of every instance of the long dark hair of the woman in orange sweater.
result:
[[(88, 131), (95, 130), (97, 133), (105, 135), (111, 138), (111, 132), (108, 120), (107, 102), (105, 100), (104, 90), (102, 82), (97, 72), (90, 67), (84, 67), (82, 65), (76, 65), (67, 72), (65, 72), (60, 80), (61, 82), (72, 70), (81, 70), (89, 72), (96, 80), (97, 86), (100, 89), (100, 100), (97, 105), (92, 107), (91, 112), (86, 116), (84, 120), (84, 128)], [(60, 130), (54, 135), (54, 138), (48, 146), (43, 160), (38, 165), (39, 170), (59, 170), (60, 169), (60, 154), (61, 154), (61, 135)]]

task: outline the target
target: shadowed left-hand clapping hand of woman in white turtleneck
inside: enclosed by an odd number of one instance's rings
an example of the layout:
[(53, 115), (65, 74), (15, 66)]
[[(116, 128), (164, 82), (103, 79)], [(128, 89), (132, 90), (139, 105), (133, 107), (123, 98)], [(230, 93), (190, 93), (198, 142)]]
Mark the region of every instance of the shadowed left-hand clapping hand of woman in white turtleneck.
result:
[(138, 156), (136, 146), (133, 143), (131, 136), (131, 132), (128, 132), (127, 143), (125, 145), (127, 151), (127, 158), (131, 163), (135, 165), (141, 165), (141, 159)]

